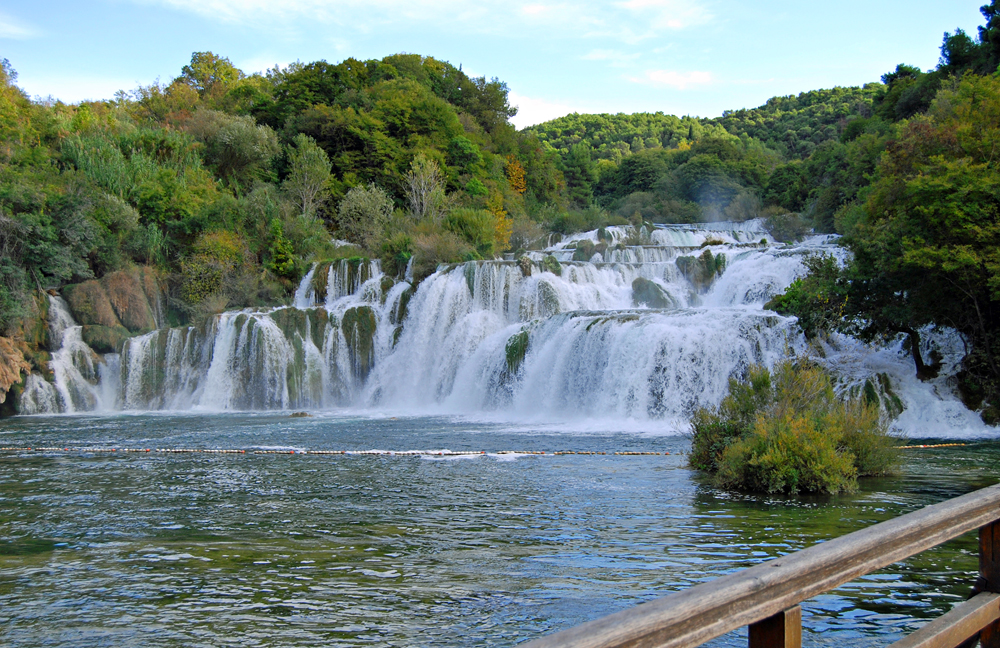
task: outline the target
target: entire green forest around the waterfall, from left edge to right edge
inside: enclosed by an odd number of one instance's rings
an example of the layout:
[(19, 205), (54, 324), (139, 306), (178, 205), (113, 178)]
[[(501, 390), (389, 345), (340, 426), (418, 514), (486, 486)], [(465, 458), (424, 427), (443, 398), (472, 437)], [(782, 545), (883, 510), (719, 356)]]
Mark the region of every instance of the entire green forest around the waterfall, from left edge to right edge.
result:
[(927, 72), (715, 119), (573, 114), (522, 131), (505, 83), (412, 54), (248, 75), (196, 52), (169, 83), (76, 105), (30, 99), (4, 60), (0, 395), (44, 370), (40, 291), (95, 278), (141, 268), (190, 323), (285, 303), (316, 261), (378, 257), (419, 281), (550, 233), (764, 217), (779, 240), (836, 232), (854, 253), (811, 261), (774, 308), (809, 335), (910, 336), (923, 374), (919, 329), (951, 326), (969, 345), (967, 402), (995, 417), (998, 11), (983, 8), (977, 38), (945, 34)]

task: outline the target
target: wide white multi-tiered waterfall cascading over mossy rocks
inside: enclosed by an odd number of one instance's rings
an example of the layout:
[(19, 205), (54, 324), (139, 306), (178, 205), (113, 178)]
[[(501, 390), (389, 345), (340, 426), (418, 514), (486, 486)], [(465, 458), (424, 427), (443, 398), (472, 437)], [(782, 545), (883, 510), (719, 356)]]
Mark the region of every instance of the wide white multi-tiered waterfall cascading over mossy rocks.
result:
[[(572, 261), (578, 250), (590, 258)], [(416, 291), (378, 261), (343, 259), (314, 265), (292, 307), (153, 331), (131, 338), (120, 360), (93, 353), (52, 298), (52, 376), (31, 376), (20, 407), (349, 406), (684, 429), (731, 376), (803, 348), (794, 320), (763, 305), (815, 252), (844, 254), (826, 236), (775, 244), (757, 221), (609, 227), (518, 261), (443, 266)], [(852, 357), (875, 353), (859, 348)], [(902, 375), (905, 359), (897, 364)]]

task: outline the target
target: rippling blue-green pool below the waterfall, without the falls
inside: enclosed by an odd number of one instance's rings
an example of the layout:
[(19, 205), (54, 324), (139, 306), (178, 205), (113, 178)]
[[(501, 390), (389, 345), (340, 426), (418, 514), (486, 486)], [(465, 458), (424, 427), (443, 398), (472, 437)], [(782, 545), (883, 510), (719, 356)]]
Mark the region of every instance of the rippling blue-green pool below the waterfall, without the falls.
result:
[[(683, 452), (674, 436), (443, 419), (13, 419), (0, 446)], [(720, 493), (683, 455), (0, 453), (0, 643), (510, 646), (995, 483), (1000, 446), (910, 450), (843, 497)], [(966, 536), (805, 604), (882, 645), (964, 599)], [(724, 637), (713, 645), (745, 645)]]

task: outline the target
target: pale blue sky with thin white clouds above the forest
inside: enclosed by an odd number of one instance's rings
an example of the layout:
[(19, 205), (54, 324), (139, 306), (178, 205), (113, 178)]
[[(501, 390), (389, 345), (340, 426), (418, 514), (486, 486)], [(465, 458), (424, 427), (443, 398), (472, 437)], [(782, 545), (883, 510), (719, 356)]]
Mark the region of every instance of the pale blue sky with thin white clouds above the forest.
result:
[(937, 64), (985, 0), (0, 0), (0, 58), (32, 96), (110, 98), (194, 51), (245, 72), (397, 52), (498, 77), (518, 126), (569, 112), (718, 116)]

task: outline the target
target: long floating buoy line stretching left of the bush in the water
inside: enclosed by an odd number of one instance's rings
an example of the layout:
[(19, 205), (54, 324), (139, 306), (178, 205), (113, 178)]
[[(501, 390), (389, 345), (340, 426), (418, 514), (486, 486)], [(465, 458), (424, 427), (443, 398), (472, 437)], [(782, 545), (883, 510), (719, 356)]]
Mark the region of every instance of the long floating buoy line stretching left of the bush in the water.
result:
[(639, 456), (667, 456), (670, 454), (681, 455), (683, 452), (597, 452), (591, 450), (557, 450), (555, 452), (545, 452), (543, 450), (500, 450), (497, 452), (487, 452), (485, 450), (255, 450), (255, 449), (214, 449), (214, 448), (117, 448), (117, 447), (58, 447), (58, 446), (24, 446), (24, 447), (0, 447), (0, 452), (40, 452), (40, 453), (160, 453), (160, 454), (254, 454), (254, 455), (375, 455), (382, 457), (475, 457), (485, 455), (521, 455), (521, 456), (565, 456), (565, 455), (610, 455), (623, 457)]

